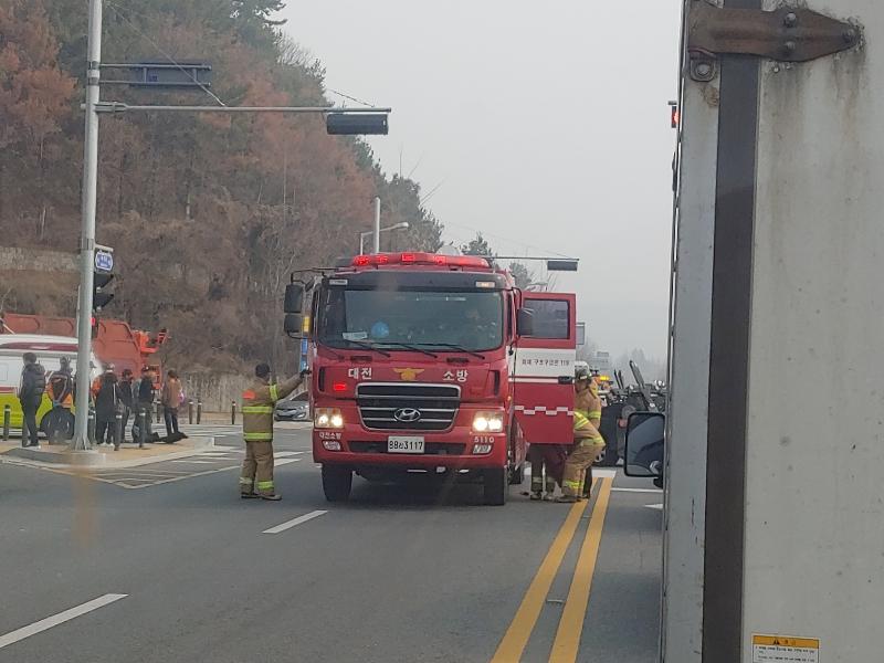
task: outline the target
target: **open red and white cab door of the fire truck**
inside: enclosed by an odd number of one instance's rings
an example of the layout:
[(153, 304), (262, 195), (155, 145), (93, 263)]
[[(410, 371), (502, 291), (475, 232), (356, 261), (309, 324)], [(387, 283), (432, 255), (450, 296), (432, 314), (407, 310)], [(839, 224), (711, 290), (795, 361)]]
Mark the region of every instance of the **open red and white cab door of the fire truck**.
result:
[(516, 421), (529, 444), (570, 444), (573, 440), (573, 362), (577, 344), (576, 296), (523, 293), (530, 334), (519, 335), (511, 379)]

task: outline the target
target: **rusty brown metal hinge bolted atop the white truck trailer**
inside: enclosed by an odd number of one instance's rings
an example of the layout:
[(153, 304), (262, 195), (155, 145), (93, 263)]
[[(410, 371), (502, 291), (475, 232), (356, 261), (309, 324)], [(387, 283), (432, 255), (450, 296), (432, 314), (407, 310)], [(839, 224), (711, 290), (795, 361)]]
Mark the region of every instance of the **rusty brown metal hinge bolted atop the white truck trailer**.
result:
[(695, 81), (715, 76), (718, 55), (807, 62), (852, 49), (861, 39), (859, 25), (789, 7), (764, 11), (694, 0), (687, 21), (687, 52)]

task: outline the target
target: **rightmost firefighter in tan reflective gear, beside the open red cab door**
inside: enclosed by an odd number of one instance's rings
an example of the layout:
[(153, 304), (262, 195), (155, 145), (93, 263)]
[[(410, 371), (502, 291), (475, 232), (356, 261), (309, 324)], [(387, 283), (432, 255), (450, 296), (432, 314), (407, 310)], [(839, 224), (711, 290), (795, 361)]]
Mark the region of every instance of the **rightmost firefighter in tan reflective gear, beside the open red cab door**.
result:
[[(575, 376), (573, 449), (565, 463), (561, 480), (561, 497), (556, 502), (578, 502), (592, 487), (592, 463), (604, 449), (604, 439), (599, 434), (601, 400), (598, 388), (593, 393), (592, 376), (578, 369)], [(585, 493), (586, 491), (586, 493)]]

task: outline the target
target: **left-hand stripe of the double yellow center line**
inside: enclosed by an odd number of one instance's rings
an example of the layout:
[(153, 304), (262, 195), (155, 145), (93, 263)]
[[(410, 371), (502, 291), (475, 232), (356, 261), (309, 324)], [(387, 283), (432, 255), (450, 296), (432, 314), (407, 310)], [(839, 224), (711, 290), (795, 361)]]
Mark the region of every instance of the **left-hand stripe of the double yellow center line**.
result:
[(522, 604), (513, 618), (513, 623), (509, 624), (504, 639), (497, 645), (497, 651), (491, 660), (492, 663), (516, 663), (522, 659), (522, 652), (525, 651), (525, 645), (528, 644), (528, 639), (532, 635), (532, 631), (534, 631), (534, 625), (537, 623), (537, 618), (540, 615), (549, 588), (559, 570), (559, 566), (561, 566), (561, 560), (573, 538), (573, 533), (580, 524), (580, 517), (583, 515), (587, 504), (587, 502), (578, 502), (568, 512), (568, 516), (552, 540), (546, 557), (544, 557), (540, 568), (537, 569), (537, 575), (532, 580), (525, 598), (522, 599)]

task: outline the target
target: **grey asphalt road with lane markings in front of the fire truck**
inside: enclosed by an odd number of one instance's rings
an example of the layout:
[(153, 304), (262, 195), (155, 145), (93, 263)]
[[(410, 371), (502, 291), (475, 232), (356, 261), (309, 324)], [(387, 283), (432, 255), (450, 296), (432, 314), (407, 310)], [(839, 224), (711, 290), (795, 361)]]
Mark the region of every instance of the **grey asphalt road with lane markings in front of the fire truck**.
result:
[(0, 661), (656, 660), (662, 494), (623, 491), (650, 482), (486, 507), (357, 478), (329, 505), (308, 434), (277, 434), (280, 503), (239, 499), (235, 436), (129, 487), (0, 464)]

